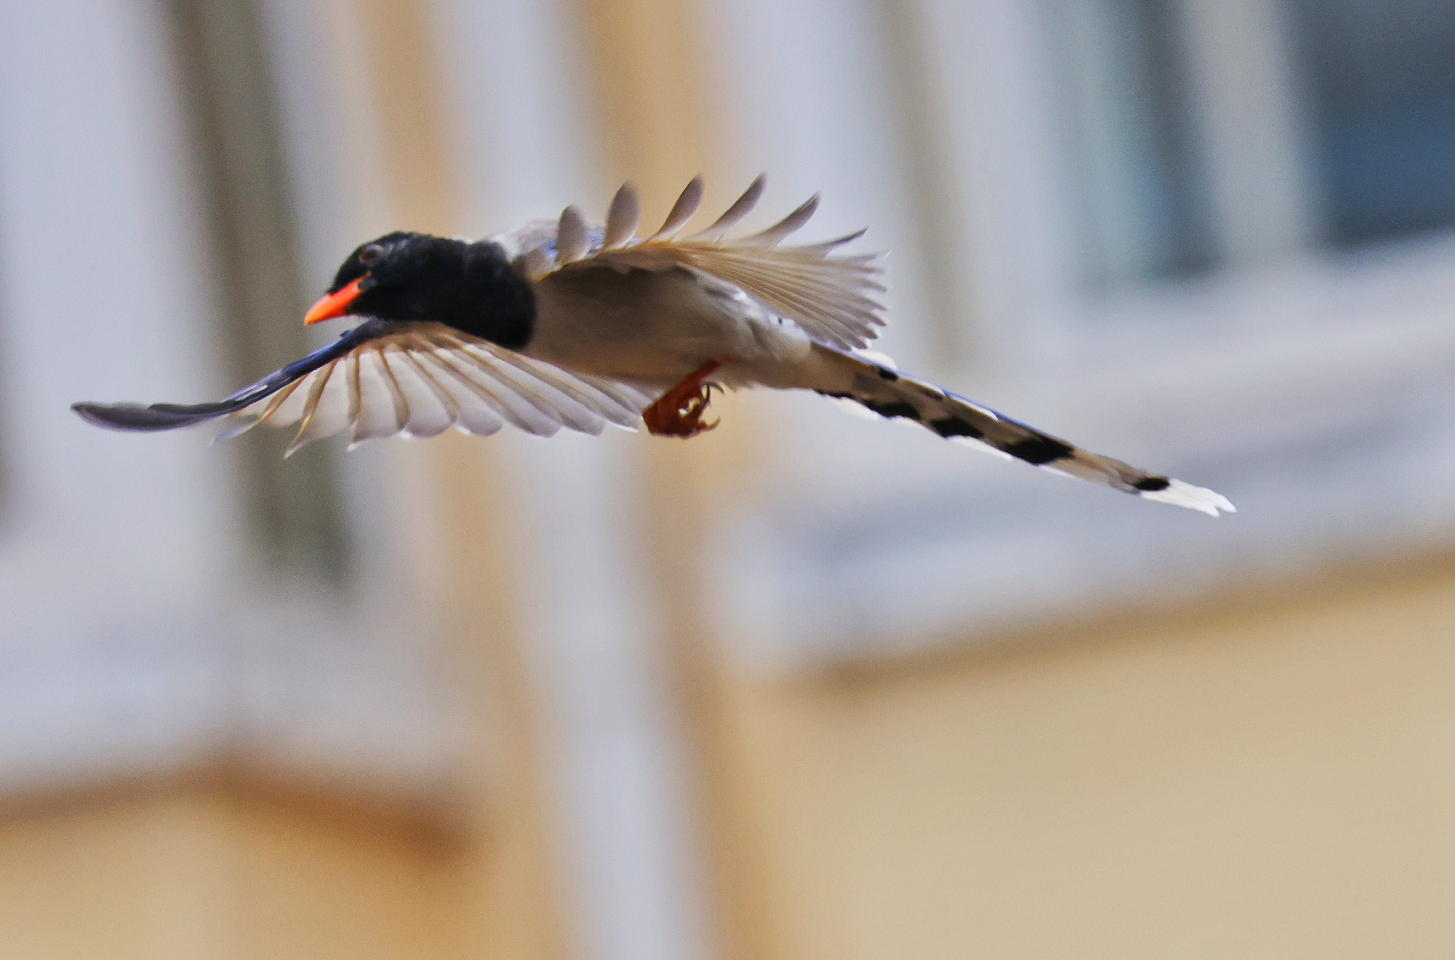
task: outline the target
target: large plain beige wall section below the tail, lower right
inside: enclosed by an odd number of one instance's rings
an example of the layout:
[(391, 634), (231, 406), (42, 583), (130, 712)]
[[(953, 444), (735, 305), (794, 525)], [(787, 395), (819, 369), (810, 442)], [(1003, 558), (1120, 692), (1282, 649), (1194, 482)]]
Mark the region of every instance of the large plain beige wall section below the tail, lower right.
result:
[(1455, 953), (1448, 564), (728, 716), (771, 957)]

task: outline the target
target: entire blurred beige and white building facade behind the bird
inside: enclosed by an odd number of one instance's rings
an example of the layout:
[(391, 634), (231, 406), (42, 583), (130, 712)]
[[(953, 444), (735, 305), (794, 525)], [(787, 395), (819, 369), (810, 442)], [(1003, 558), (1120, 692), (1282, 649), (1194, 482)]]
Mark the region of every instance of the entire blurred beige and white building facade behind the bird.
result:
[[(0, 954), (1455, 953), (1455, 6), (0, 23)], [(290, 460), (67, 409), (326, 342), (384, 231), (762, 170), (892, 252), (902, 367), (1240, 513), (813, 396)]]

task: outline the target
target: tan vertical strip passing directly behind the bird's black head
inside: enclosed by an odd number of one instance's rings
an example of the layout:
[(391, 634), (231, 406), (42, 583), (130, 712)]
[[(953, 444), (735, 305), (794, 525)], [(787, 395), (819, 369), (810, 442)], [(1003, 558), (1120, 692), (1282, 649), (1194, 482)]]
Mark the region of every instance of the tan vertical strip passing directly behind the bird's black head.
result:
[[(461, 233), (464, 191), (448, 128), (428, 0), (345, 0), (367, 64), (377, 148), (394, 223)], [(480, 807), (463, 877), (464, 956), (567, 956), (546, 817), (538, 684), (522, 650), (518, 543), (499, 448), (455, 433), (402, 451), (402, 515), (419, 592), (463, 668), (477, 724)]]

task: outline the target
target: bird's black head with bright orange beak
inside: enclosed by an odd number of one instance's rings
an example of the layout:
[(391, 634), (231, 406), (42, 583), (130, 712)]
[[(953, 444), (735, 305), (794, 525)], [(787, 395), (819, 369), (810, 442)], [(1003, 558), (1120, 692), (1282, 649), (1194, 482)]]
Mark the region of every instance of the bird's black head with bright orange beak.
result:
[(499, 244), (396, 231), (354, 250), (304, 323), (343, 316), (444, 323), (519, 349), (535, 297)]

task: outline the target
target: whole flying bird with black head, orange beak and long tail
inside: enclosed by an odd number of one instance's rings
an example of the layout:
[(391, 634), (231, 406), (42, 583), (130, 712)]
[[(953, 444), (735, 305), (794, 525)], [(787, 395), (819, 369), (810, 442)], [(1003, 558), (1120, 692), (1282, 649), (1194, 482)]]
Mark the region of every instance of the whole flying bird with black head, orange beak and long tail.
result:
[(700, 177), (645, 239), (630, 183), (604, 224), (567, 207), (480, 241), (390, 233), (354, 250), (306, 314), (307, 324), (361, 320), (329, 346), (217, 403), (73, 409), (121, 431), (223, 420), (224, 438), (297, 423), (291, 454), (343, 431), (358, 444), (451, 426), (486, 436), (506, 423), (550, 436), (645, 422), (658, 436), (690, 438), (716, 426), (703, 419), (714, 387), (813, 390), (1148, 500), (1212, 516), (1234, 509), (1212, 490), (1084, 451), (867, 353), (885, 324), (882, 256), (837, 253), (863, 230), (783, 246), (818, 196), (729, 239), (762, 188), (760, 176), (687, 237)]

